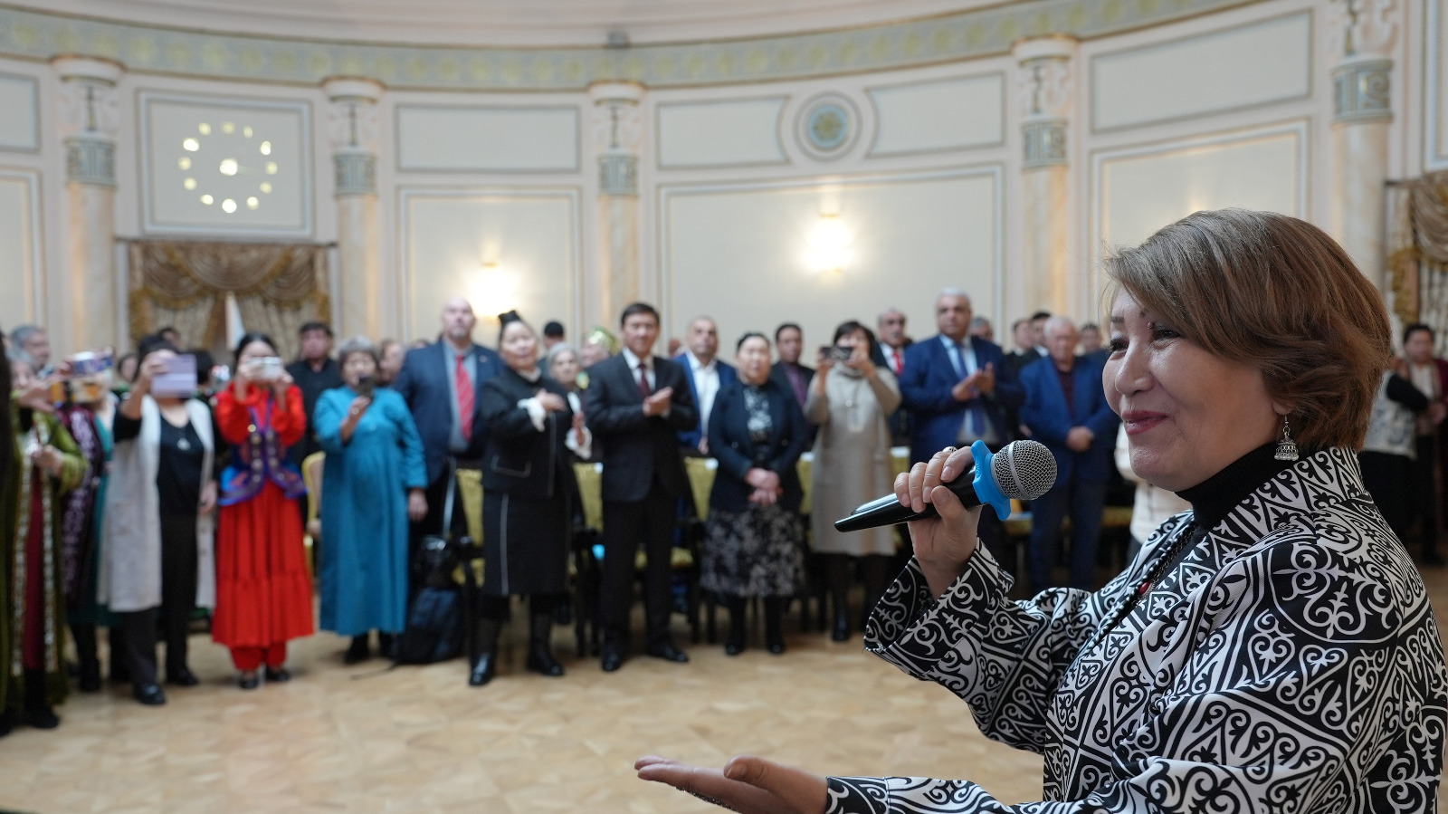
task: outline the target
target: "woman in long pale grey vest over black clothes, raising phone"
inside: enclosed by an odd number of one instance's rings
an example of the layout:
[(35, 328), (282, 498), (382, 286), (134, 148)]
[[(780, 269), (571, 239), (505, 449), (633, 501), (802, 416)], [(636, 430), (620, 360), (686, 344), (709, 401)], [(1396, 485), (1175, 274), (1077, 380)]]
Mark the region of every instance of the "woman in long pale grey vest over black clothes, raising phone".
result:
[(206, 403), (155, 390), (178, 351), (161, 337), (136, 349), (136, 381), (116, 413), (116, 449), (101, 516), (101, 604), (120, 617), (119, 662), (136, 701), (165, 704), (156, 627), (165, 630), (167, 682), (200, 684), (187, 665), (191, 611), (216, 605), (216, 421)]

